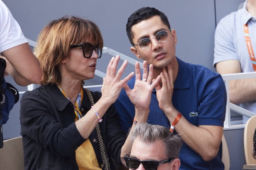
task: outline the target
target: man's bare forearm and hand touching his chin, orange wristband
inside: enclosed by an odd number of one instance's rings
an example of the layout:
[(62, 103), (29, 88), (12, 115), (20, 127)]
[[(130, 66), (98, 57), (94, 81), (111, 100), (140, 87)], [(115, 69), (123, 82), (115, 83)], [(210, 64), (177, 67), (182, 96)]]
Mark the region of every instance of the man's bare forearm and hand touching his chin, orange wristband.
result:
[[(162, 87), (156, 87), (157, 98), (160, 109), (166, 114), (170, 122), (176, 118), (178, 110), (172, 104), (173, 93), (173, 68), (168, 65), (161, 73)], [(219, 126), (199, 126), (189, 123), (183, 116), (175, 126), (175, 130), (180, 134), (182, 140), (205, 161), (215, 158), (218, 153), (220, 141), (222, 139), (223, 127)]]

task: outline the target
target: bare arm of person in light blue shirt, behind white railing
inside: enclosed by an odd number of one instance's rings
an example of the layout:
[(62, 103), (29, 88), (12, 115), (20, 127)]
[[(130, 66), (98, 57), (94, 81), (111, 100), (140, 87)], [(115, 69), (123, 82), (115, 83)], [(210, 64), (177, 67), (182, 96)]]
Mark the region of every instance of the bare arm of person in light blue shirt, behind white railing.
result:
[[(216, 64), (217, 72), (220, 74), (231, 74), (241, 72), (238, 60), (226, 60)], [(234, 104), (256, 100), (256, 79), (232, 80), (229, 82), (230, 102)]]

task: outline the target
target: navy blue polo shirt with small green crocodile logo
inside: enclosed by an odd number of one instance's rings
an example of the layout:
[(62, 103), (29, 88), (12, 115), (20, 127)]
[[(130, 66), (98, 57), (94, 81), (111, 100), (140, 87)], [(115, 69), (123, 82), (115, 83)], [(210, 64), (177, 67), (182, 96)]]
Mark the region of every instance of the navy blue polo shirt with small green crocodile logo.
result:
[[(185, 63), (177, 58), (179, 71), (174, 83), (173, 106), (182, 113), (188, 122), (195, 126), (224, 124), (226, 113), (226, 88), (220, 74), (201, 65)], [(135, 76), (128, 82), (132, 89)], [(119, 113), (120, 125), (128, 132), (132, 126), (135, 108), (124, 90), (115, 102)], [(150, 113), (147, 123), (170, 128), (170, 122), (158, 106), (156, 91), (151, 95)], [(196, 132), (195, 132), (196, 133)], [(201, 156), (185, 143), (181, 147), (180, 170), (223, 170), (222, 145), (218, 155), (211, 161), (203, 161)]]

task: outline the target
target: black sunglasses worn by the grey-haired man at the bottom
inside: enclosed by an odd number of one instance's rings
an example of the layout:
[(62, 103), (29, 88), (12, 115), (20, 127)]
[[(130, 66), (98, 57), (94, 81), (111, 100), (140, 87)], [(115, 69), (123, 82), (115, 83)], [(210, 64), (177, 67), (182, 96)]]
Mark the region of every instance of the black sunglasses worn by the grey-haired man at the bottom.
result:
[(142, 163), (145, 170), (157, 170), (158, 165), (164, 164), (164, 163), (170, 163), (175, 158), (169, 158), (162, 161), (154, 161), (154, 160), (144, 160), (141, 161), (136, 158), (129, 157), (129, 155), (124, 156), (124, 160), (126, 163), (126, 166), (132, 170), (136, 170), (139, 167), (139, 164)]

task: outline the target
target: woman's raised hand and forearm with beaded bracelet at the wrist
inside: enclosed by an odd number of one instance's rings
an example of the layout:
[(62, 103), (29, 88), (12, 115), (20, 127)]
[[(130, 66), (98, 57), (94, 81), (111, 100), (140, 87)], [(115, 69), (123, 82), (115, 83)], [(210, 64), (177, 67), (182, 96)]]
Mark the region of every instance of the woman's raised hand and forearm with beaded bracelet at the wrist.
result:
[[(117, 64), (120, 56), (112, 58), (107, 67), (106, 76), (103, 78), (102, 97), (95, 103), (94, 108), (98, 112), (99, 117), (105, 114), (109, 106), (112, 105), (118, 98), (124, 84), (133, 76), (133, 72), (120, 80), (128, 61), (124, 61), (120, 69), (117, 71)], [(116, 73), (117, 71), (117, 73)], [(75, 122), (77, 130), (84, 139), (87, 139), (91, 132), (96, 127), (99, 120), (95, 116), (93, 109), (90, 109), (85, 116)]]

